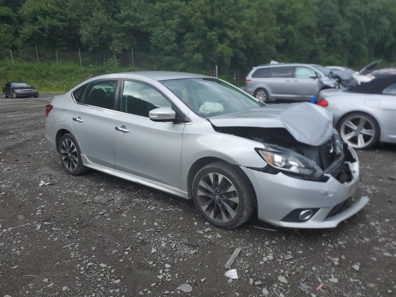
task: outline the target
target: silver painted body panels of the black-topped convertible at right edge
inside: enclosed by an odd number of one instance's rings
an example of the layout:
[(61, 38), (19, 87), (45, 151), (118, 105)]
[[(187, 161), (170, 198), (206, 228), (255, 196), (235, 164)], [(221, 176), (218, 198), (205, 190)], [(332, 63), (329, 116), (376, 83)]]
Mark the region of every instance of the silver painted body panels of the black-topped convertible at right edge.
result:
[(396, 96), (346, 92), (329, 89), (319, 93), (319, 100), (326, 98), (326, 107), (333, 114), (333, 125), (351, 112), (365, 112), (379, 124), (381, 142), (396, 143)]

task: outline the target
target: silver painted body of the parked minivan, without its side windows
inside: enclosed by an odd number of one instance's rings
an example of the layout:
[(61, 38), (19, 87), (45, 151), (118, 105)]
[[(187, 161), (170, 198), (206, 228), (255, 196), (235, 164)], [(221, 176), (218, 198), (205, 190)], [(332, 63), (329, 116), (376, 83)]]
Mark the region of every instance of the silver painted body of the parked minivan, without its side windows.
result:
[[(252, 77), (252, 74), (256, 69), (267, 68), (267, 67), (307, 67), (314, 70), (320, 74), (320, 78), (257, 78)], [(250, 95), (259, 88), (264, 88), (268, 92), (268, 97), (270, 100), (273, 99), (295, 99), (295, 100), (309, 100), (311, 97), (316, 97), (319, 90), (327, 87), (334, 88), (335, 80), (333, 78), (328, 78), (318, 69), (312, 67), (309, 64), (272, 64), (265, 66), (253, 67), (252, 70), (246, 76), (249, 82), (246, 82), (245, 91)]]

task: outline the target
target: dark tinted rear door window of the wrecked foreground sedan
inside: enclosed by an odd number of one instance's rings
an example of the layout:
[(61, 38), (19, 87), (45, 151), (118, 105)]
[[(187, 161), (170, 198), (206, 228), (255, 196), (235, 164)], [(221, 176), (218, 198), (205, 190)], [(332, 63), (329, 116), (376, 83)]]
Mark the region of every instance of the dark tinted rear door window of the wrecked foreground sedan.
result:
[(83, 103), (96, 107), (114, 109), (117, 85), (118, 80), (101, 80), (89, 84), (84, 94)]

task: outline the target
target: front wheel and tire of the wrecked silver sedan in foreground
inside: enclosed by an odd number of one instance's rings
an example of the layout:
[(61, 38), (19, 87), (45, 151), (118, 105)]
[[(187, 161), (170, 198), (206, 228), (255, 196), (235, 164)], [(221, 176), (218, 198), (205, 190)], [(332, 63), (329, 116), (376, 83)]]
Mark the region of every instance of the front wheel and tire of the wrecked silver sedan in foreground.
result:
[(202, 217), (220, 228), (242, 225), (255, 208), (246, 177), (227, 162), (214, 162), (201, 168), (192, 183), (192, 197)]

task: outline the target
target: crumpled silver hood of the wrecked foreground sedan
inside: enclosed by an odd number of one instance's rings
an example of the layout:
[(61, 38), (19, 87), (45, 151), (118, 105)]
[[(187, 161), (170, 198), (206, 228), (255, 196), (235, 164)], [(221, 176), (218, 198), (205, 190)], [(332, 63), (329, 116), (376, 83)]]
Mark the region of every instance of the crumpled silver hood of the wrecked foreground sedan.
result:
[(333, 114), (308, 102), (268, 105), (208, 120), (217, 127), (286, 128), (297, 141), (314, 146), (333, 135)]

